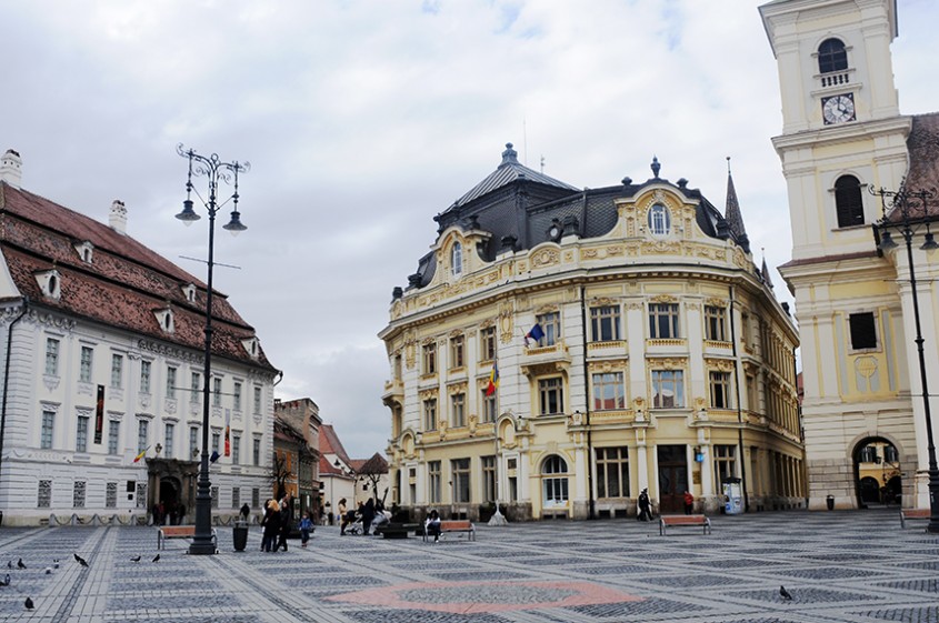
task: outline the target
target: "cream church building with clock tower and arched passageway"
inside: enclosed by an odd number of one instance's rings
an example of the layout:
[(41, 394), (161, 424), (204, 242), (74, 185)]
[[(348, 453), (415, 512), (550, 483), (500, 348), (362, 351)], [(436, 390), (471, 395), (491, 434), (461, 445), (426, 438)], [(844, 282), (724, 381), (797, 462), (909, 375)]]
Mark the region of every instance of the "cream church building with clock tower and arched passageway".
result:
[[(936, 188), (939, 117), (900, 114), (890, 43), (895, 0), (777, 0), (760, 8), (779, 69), (782, 133), (772, 142), (789, 192), (792, 259), (780, 272), (802, 336), (809, 504), (887, 499), (928, 506), (928, 452), (915, 304), (905, 252), (885, 253), (872, 224), (897, 210), (877, 191)], [(871, 192), (873, 191), (873, 192)], [(936, 203), (916, 220), (935, 219)], [(939, 264), (912, 265), (926, 342), (923, 372), (939, 372)], [(935, 390), (933, 390), (935, 391)], [(871, 459), (880, 456), (879, 475)], [(891, 465), (888, 471), (881, 468)]]

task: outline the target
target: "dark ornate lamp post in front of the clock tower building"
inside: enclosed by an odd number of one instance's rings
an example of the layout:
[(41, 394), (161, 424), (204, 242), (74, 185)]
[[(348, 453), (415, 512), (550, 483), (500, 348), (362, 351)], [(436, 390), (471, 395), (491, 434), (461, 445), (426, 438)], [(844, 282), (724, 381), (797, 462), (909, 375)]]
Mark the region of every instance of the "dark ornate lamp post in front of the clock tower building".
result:
[[(922, 251), (935, 251), (939, 244), (929, 231), (929, 223), (937, 220), (937, 217), (929, 213), (928, 201), (935, 197), (929, 191), (889, 191), (886, 189), (873, 190), (872, 194), (880, 197), (883, 204), (883, 217), (873, 225), (875, 240), (881, 251), (896, 249), (897, 242), (890, 235), (891, 230), (899, 232), (907, 244), (907, 262), (910, 268), (910, 293), (913, 303), (913, 321), (916, 323), (916, 348), (919, 355), (919, 376), (922, 391), (922, 412), (926, 419), (926, 441), (929, 458), (929, 524), (927, 532), (939, 533), (939, 466), (936, 463), (936, 445), (932, 441), (932, 415), (929, 405), (929, 388), (926, 374), (926, 355), (922, 349), (922, 329), (919, 320), (919, 295), (916, 284), (916, 268), (913, 264), (913, 234), (922, 227), (926, 228), (925, 241), (920, 249)], [(887, 205), (891, 211), (887, 212)]]

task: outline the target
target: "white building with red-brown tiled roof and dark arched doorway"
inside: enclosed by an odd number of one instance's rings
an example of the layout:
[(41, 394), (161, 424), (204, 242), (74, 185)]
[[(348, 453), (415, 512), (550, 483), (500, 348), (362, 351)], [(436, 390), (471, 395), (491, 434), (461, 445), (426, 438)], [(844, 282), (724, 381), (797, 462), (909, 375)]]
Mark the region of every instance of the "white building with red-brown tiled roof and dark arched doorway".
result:
[(269, 489), (277, 370), (214, 293), (203, 379), (206, 285), (109, 224), (20, 188), (0, 162), (0, 510), (9, 524), (194, 515), (209, 383), (212, 513)]

